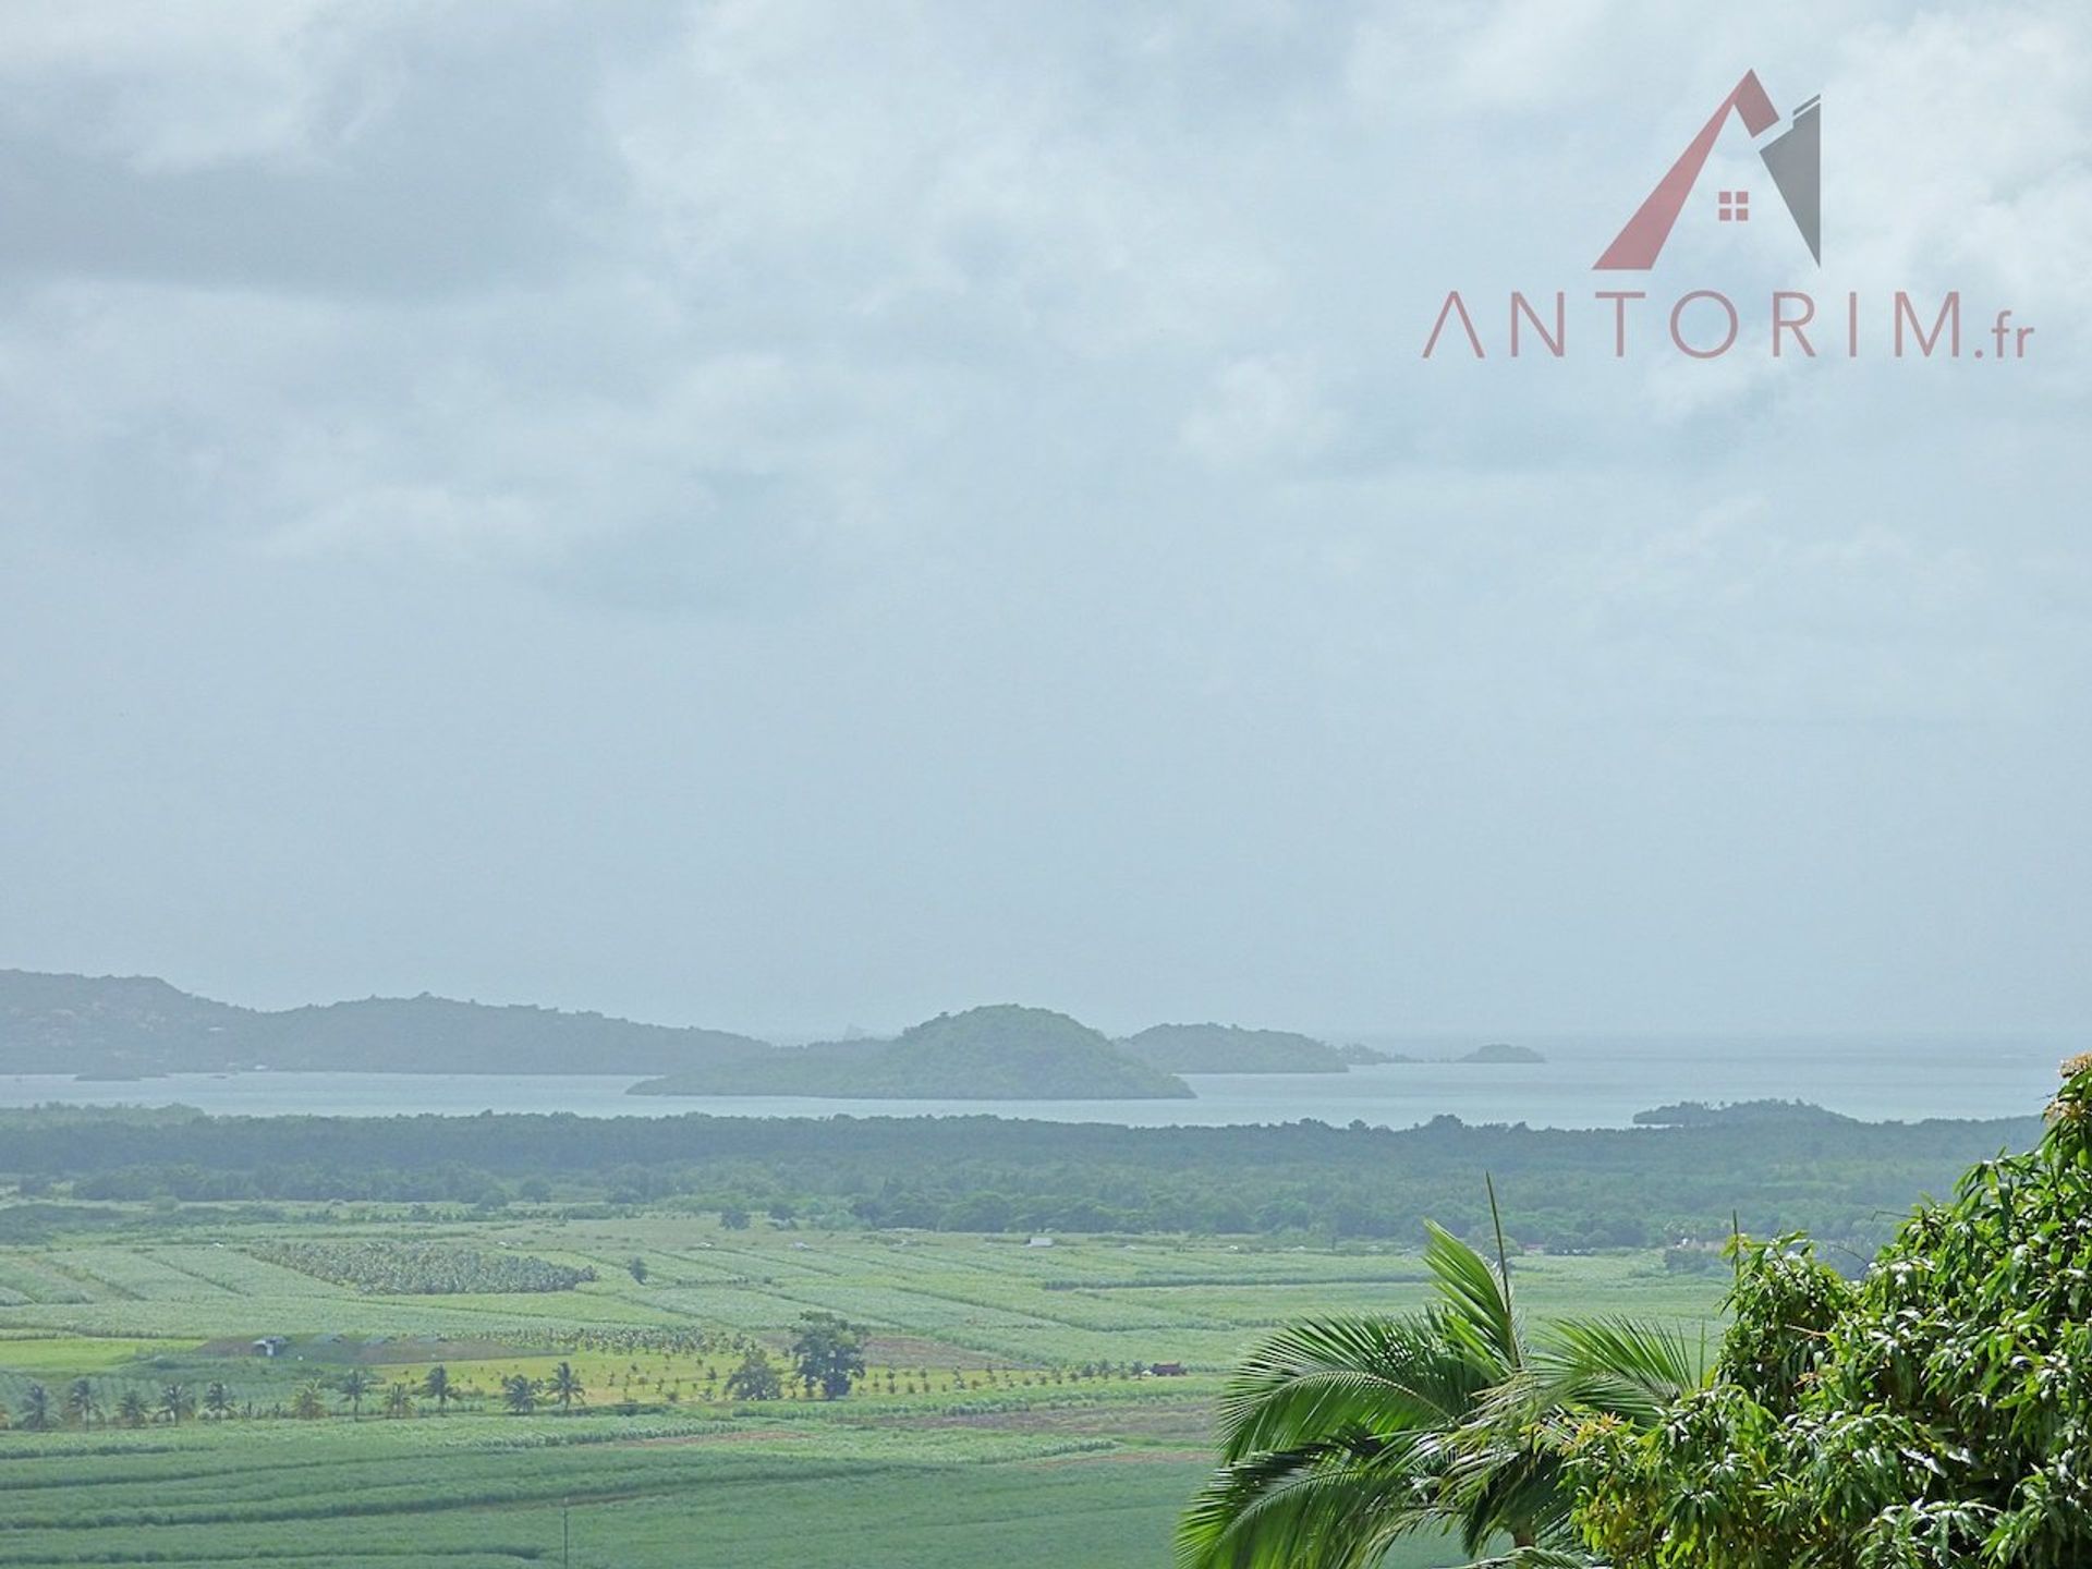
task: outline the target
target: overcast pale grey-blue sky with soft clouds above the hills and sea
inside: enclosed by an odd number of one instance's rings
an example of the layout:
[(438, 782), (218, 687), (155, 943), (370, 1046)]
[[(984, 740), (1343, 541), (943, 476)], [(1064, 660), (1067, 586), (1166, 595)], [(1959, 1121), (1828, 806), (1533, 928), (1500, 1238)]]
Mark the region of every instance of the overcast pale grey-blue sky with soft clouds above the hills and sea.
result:
[[(1908, 13), (17, 0), (0, 967), (2082, 1029), (2092, 13)], [(1732, 130), (1747, 351), (1506, 362), (1747, 67), (1822, 270)]]

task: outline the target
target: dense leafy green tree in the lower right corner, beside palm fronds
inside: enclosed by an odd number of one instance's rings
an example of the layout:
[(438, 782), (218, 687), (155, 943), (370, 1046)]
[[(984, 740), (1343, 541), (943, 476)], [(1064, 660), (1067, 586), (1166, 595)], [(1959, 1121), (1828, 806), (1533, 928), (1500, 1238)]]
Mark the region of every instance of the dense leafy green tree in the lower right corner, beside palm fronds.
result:
[(1858, 1284), (1741, 1253), (1713, 1385), (1594, 1423), (1577, 1519), (1619, 1569), (2092, 1563), (2092, 1059), (2029, 1155), (1969, 1172)]

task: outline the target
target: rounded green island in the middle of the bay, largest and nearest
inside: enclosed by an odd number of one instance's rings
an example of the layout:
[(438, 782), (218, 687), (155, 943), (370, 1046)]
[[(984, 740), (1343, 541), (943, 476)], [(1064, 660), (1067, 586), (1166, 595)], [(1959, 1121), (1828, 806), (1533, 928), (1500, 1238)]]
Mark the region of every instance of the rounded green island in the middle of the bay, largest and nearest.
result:
[(1065, 1013), (998, 1004), (941, 1013), (895, 1040), (772, 1046), (632, 1094), (789, 1094), (845, 1100), (1182, 1100), (1190, 1086)]

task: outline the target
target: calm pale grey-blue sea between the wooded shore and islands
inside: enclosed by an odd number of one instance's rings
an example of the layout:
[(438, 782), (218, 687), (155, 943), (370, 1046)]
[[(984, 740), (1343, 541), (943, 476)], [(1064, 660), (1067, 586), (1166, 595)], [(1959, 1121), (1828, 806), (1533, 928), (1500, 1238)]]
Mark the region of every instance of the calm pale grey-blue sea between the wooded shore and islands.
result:
[[(1374, 1042), (1450, 1056), (1446, 1042)], [(1471, 1042), (1464, 1042), (1464, 1048)], [(1525, 1040), (1538, 1065), (1385, 1063), (1349, 1073), (1197, 1075), (1197, 1100), (826, 1100), (799, 1096), (628, 1096), (632, 1077), (483, 1073), (176, 1073), (90, 1084), (59, 1075), (0, 1077), (0, 1105), (172, 1105), (213, 1113), (381, 1117), (437, 1111), (573, 1111), (586, 1117), (910, 1117), (998, 1115), (1134, 1128), (1366, 1121), (1408, 1128), (1450, 1113), (1533, 1128), (1619, 1128), (1669, 1100), (1814, 1100), (1868, 1121), (2033, 1115), (2056, 1063), (2092, 1042), (1950, 1038)]]

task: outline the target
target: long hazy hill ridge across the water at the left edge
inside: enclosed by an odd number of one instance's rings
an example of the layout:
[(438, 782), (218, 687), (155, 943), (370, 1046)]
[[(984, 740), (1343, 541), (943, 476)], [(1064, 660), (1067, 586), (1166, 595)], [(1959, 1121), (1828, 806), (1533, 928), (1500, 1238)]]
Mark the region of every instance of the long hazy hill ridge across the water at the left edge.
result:
[(153, 977), (0, 971), (0, 1073), (674, 1073), (770, 1050), (722, 1029), (429, 994), (264, 1013)]

